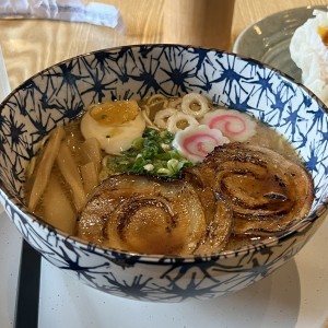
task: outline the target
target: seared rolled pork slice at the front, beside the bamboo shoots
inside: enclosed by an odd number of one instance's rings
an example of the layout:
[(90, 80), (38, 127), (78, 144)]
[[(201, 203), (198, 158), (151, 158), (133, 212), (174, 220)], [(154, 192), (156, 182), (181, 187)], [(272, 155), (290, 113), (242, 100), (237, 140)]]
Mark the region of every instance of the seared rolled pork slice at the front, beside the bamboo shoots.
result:
[(223, 249), (232, 212), (209, 190), (202, 194), (186, 179), (124, 174), (96, 189), (77, 229), (81, 238), (120, 250), (200, 255)]

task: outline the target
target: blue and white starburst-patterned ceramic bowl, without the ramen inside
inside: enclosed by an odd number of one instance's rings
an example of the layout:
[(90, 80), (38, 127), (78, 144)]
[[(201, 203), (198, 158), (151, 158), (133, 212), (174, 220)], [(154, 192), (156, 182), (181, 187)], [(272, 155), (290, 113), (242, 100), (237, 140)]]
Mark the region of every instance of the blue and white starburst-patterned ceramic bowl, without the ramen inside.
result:
[[(91, 103), (198, 92), (247, 112), (284, 134), (313, 175), (311, 214), (284, 236), (210, 257), (143, 256), (65, 235), (24, 204), (24, 169), (56, 125)], [(142, 45), (74, 57), (42, 71), (0, 106), (0, 198), (23, 237), (81, 282), (114, 295), (153, 302), (211, 298), (265, 278), (291, 259), (324, 220), (328, 192), (328, 117), (302, 85), (250, 59), (216, 50)]]

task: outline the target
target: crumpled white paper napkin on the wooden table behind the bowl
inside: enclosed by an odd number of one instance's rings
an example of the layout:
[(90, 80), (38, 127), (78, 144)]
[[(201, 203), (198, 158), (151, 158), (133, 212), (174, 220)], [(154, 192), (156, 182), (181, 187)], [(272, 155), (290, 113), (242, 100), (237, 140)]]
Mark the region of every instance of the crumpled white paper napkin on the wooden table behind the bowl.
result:
[(48, 19), (122, 30), (116, 7), (82, 0), (1, 0), (0, 19)]

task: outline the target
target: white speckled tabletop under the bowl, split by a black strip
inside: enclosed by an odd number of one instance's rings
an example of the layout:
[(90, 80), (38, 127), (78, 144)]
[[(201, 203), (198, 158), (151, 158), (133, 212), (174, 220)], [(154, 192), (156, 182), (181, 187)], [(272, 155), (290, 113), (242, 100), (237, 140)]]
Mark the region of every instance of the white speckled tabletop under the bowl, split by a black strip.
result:
[[(39, 327), (328, 328), (328, 220), (295, 259), (260, 282), (211, 301), (143, 303), (112, 296), (42, 262)], [(0, 215), (0, 327), (13, 327), (21, 238)], [(27, 328), (27, 327), (26, 327)]]

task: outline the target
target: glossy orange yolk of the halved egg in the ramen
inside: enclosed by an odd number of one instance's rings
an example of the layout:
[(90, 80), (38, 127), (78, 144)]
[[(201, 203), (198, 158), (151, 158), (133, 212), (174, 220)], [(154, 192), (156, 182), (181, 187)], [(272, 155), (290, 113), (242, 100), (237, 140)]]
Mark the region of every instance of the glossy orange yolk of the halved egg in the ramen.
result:
[(139, 106), (136, 101), (115, 101), (104, 102), (94, 105), (91, 110), (91, 117), (104, 126), (122, 125), (133, 120), (139, 114)]

